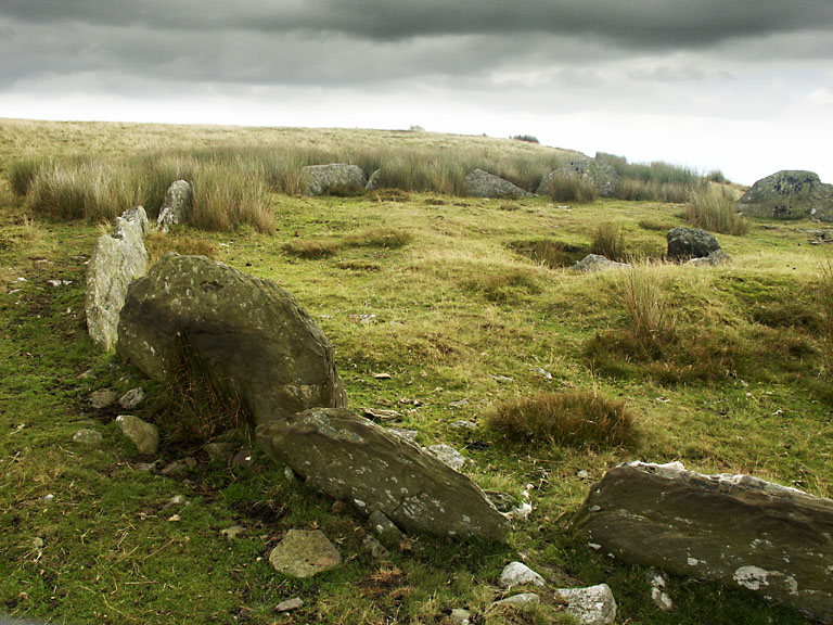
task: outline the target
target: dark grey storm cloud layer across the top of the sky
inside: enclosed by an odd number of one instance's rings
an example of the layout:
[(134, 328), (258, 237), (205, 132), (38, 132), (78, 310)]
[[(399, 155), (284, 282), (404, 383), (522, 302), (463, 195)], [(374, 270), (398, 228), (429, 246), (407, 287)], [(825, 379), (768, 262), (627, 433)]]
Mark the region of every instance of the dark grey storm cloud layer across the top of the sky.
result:
[[(808, 29), (824, 36), (802, 38), (785, 54), (830, 58), (831, 25), (833, 2), (817, 0), (3, 0), (0, 88), (81, 73), (260, 85), (485, 84), (496, 71), (590, 66)], [(751, 60), (759, 55), (755, 46), (747, 50)]]

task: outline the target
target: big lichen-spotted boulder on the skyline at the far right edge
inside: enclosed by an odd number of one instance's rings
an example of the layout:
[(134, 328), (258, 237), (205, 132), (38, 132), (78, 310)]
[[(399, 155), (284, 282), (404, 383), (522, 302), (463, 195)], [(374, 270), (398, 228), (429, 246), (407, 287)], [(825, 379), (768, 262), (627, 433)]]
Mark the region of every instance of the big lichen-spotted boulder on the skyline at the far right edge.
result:
[(833, 184), (812, 171), (783, 170), (761, 178), (738, 201), (738, 211), (753, 217), (833, 221)]

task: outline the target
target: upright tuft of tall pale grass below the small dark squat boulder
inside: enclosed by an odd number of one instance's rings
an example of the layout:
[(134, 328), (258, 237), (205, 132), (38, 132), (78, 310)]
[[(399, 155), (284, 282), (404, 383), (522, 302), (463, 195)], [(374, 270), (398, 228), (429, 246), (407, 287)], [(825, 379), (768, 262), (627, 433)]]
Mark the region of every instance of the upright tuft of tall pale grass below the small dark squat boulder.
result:
[(640, 349), (646, 355), (662, 352), (674, 337), (675, 319), (650, 264), (630, 264), (619, 278), (616, 295)]

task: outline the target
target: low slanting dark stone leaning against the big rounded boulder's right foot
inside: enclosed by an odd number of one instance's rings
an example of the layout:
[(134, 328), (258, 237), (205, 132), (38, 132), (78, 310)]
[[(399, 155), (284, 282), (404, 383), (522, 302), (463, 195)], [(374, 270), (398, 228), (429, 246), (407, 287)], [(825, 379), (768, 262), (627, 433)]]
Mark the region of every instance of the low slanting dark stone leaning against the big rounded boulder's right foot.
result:
[(466, 475), (350, 410), (272, 420), (257, 438), (312, 487), (383, 512), (405, 532), (507, 540), (507, 518)]

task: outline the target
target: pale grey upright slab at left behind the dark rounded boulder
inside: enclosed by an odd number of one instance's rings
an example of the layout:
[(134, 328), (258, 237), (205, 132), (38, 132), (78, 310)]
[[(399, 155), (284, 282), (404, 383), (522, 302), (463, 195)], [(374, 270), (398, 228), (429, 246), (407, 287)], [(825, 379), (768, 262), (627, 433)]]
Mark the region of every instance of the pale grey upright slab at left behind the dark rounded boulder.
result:
[(85, 311), (92, 342), (105, 352), (116, 347), (118, 315), (128, 286), (148, 272), (151, 256), (142, 234), (149, 229), (144, 208), (137, 206), (116, 217), (112, 235), (95, 241), (87, 266)]

